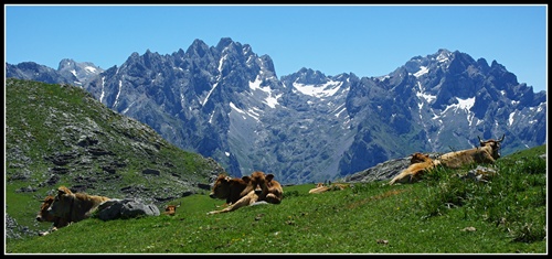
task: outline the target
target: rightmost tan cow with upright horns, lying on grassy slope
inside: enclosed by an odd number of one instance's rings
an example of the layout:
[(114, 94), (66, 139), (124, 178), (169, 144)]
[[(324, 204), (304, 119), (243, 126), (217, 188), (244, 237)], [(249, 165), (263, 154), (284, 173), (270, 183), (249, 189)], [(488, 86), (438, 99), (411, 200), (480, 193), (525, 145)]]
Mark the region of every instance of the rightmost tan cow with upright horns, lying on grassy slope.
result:
[(480, 147), (443, 154), (438, 159), (440, 164), (450, 169), (459, 169), (471, 163), (495, 163), (500, 158), (500, 143), (505, 140), (505, 134), (499, 140), (481, 141), (479, 136), (477, 138)]

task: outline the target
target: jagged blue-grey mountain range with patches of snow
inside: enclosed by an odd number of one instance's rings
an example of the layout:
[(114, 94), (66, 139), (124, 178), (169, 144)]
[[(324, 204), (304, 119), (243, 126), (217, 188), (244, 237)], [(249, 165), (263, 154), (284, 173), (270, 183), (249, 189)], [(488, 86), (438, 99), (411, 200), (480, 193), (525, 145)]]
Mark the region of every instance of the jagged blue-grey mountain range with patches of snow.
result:
[[(7, 64), (7, 76), (53, 71), (20, 65)], [(74, 80), (59, 74), (57, 83)], [(478, 136), (505, 133), (505, 154), (546, 141), (545, 91), (533, 93), (496, 61), (444, 48), (382, 77), (301, 68), (278, 79), (272, 58), (248, 44), (195, 40), (170, 55), (132, 53), (78, 83), (233, 175), (262, 170), (285, 184), (342, 177), (416, 151), (471, 148)]]

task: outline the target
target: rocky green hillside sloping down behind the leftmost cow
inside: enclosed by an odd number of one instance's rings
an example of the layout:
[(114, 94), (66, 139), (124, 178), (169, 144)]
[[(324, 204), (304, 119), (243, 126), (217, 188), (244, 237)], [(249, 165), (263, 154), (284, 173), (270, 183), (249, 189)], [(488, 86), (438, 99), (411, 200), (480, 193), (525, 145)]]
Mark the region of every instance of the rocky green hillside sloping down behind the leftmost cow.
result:
[(60, 185), (159, 206), (205, 192), (211, 177), (224, 172), (82, 88), (7, 79), (4, 90), (6, 212), (30, 230), (51, 225), (35, 222), (38, 199)]

